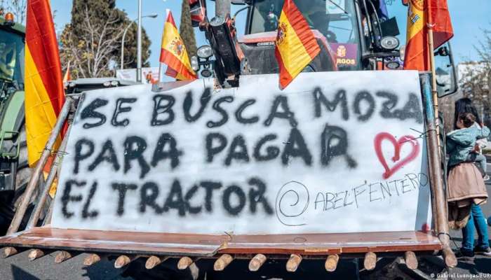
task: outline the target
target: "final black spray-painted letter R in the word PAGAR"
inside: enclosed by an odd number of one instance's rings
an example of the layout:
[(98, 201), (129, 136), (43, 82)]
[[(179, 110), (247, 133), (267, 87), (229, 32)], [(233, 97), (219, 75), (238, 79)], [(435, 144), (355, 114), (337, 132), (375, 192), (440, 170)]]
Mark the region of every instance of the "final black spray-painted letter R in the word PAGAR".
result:
[(326, 124), (321, 134), (321, 163), (327, 166), (332, 158), (341, 155), (344, 156), (350, 168), (355, 168), (358, 165), (354, 158), (348, 154), (347, 133), (341, 127)]

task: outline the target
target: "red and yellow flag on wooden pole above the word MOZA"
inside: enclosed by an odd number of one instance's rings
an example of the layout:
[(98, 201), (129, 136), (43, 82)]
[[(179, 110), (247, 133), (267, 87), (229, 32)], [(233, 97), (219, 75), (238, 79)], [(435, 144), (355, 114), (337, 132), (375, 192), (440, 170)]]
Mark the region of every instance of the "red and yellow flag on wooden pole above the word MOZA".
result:
[[(429, 27), (433, 29), (433, 48), (453, 36), (446, 0), (409, 0), (408, 31), (404, 69), (429, 71)], [(431, 50), (433, 51), (433, 50)]]

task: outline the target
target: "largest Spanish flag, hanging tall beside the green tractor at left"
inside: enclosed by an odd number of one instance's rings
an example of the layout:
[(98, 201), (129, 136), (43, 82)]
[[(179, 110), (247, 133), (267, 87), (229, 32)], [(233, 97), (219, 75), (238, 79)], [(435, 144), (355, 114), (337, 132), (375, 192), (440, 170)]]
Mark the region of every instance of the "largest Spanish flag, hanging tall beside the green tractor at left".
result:
[[(32, 166), (41, 157), (65, 102), (58, 41), (48, 0), (27, 1), (25, 42), (25, 127)], [(55, 148), (60, 139), (56, 144)]]

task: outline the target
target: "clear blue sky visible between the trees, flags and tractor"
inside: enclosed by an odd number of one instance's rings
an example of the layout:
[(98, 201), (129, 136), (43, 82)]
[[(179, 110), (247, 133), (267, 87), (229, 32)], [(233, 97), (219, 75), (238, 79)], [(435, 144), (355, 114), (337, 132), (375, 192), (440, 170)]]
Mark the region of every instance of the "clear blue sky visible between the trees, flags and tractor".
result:
[[(213, 2), (208, 1), (208, 16), (213, 18), (215, 11)], [(396, 16), (401, 36), (405, 37), (405, 20), (407, 8), (401, 5), (401, 0), (385, 0), (390, 16)], [(116, 6), (128, 13), (131, 19), (137, 18), (137, 0), (116, 0)], [(491, 29), (491, 0), (448, 0), (450, 16), (454, 28), (454, 38), (452, 38), (452, 51), (456, 63), (466, 60), (476, 60), (478, 55), (473, 45), (477, 45), (483, 38), (483, 28)], [(51, 0), (51, 7), (56, 10), (55, 25), (57, 31), (70, 21), (72, 11), (71, 0)], [(242, 6), (233, 6), (234, 10)], [(152, 41), (152, 55), (149, 58), (151, 66), (159, 66), (159, 54), (163, 23), (165, 22), (166, 9), (173, 12), (175, 22), (179, 25), (181, 0), (142, 0), (142, 15), (157, 13), (157, 18), (144, 18), (142, 24)], [(243, 11), (236, 18), (238, 33), (243, 34), (245, 27), (245, 15)], [(196, 41), (199, 45), (207, 44), (204, 34), (195, 29)], [(404, 40), (404, 38), (403, 38)]]

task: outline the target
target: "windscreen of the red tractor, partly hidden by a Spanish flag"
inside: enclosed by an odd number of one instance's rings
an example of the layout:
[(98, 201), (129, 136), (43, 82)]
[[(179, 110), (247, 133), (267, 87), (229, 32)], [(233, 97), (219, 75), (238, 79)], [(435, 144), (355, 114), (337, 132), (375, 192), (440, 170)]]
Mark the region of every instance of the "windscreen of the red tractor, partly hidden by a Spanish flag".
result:
[[(361, 69), (361, 50), (353, 0), (294, 0), (311, 29), (318, 30), (336, 56), (339, 70)], [(250, 34), (276, 31), (283, 0), (255, 0)]]

